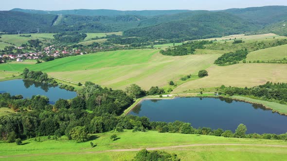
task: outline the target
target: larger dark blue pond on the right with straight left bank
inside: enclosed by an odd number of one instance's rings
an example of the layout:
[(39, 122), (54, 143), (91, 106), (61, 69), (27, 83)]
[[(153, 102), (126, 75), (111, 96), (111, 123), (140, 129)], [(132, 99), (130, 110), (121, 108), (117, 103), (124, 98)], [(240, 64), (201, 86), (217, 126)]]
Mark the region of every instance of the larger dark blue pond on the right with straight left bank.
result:
[(272, 113), (260, 105), (225, 98), (175, 98), (144, 100), (129, 114), (151, 121), (191, 123), (195, 128), (235, 130), (241, 123), (248, 133), (286, 133), (287, 116)]

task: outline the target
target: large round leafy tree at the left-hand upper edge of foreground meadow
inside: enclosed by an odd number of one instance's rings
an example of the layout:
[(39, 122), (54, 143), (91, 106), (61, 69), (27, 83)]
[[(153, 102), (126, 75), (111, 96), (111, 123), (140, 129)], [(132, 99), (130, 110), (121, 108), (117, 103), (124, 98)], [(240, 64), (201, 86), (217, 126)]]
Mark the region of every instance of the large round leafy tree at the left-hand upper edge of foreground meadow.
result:
[(88, 131), (85, 126), (83, 127), (74, 127), (70, 131), (72, 140), (75, 140), (77, 143), (85, 142), (89, 139)]

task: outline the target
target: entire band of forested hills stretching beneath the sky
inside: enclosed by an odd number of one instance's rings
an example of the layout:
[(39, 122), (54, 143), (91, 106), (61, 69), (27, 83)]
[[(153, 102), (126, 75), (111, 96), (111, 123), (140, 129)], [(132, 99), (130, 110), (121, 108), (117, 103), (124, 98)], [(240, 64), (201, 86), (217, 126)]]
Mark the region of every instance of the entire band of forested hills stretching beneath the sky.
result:
[[(275, 26), (275, 33), (286, 35), (285, 28), (282, 28), (284, 25), (282, 23), (287, 18), (286, 8), (286, 6), (266, 6), (222, 11), (13, 9), (0, 12), (2, 22), (0, 32), (35, 33), (37, 28), (42, 33), (124, 31), (125, 37), (183, 41), (236, 33), (267, 32)], [(58, 16), (59, 14), (63, 16)]]

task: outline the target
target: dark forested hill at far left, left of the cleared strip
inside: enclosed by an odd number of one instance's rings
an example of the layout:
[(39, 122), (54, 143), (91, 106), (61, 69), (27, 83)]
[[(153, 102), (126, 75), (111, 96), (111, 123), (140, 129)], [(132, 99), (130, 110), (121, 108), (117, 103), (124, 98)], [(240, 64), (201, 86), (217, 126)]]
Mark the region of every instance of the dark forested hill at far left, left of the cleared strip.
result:
[(48, 30), (56, 18), (56, 15), (0, 11), (0, 32), (36, 32), (37, 28)]

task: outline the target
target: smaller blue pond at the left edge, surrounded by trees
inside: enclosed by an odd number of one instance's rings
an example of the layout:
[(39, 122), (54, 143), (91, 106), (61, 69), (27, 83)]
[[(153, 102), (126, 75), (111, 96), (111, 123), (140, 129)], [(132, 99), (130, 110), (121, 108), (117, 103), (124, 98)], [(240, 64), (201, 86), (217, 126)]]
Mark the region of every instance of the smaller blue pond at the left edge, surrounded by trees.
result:
[(58, 86), (47, 83), (26, 80), (0, 81), (0, 93), (10, 93), (11, 96), (22, 95), (24, 98), (42, 95), (48, 97), (51, 104), (60, 98), (71, 99), (76, 97), (76, 92), (60, 89)]

